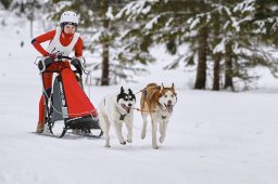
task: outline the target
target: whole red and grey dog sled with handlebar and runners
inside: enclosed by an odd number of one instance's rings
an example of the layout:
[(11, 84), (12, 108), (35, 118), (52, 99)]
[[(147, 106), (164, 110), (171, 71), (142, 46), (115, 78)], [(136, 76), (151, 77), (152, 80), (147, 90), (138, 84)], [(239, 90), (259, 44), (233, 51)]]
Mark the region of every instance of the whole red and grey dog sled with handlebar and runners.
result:
[[(83, 58), (84, 60), (84, 58)], [(68, 61), (76, 70), (65, 67), (64, 61)], [(51, 65), (59, 65), (52, 68)], [(84, 60), (85, 63), (85, 60)], [(101, 137), (103, 132), (99, 126), (98, 111), (86, 95), (83, 86), (83, 73), (86, 73), (83, 63), (77, 58), (58, 55), (56, 58), (37, 57), (35, 64), (38, 66), (45, 97), (45, 129), (40, 135), (63, 137), (67, 130), (73, 130), (75, 135), (88, 137)], [(53, 73), (51, 90), (45, 89), (43, 74)], [(52, 131), (56, 121), (64, 121), (64, 128), (60, 135)], [(98, 135), (91, 130), (100, 130)], [(68, 132), (67, 132), (68, 133)], [(38, 134), (38, 133), (37, 133)]]

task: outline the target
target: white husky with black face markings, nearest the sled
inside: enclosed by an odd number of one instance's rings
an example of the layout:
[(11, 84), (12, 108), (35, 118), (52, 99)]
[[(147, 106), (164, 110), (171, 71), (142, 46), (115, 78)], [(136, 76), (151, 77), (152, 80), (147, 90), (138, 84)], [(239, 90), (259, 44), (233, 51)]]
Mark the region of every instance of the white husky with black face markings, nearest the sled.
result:
[(121, 144), (125, 145), (126, 141), (122, 133), (123, 122), (127, 128), (127, 142), (132, 142), (134, 127), (134, 105), (136, 96), (130, 89), (127, 91), (121, 88), (118, 94), (105, 96), (99, 105), (100, 127), (104, 132), (105, 147), (110, 147), (110, 127), (112, 126), (117, 134)]

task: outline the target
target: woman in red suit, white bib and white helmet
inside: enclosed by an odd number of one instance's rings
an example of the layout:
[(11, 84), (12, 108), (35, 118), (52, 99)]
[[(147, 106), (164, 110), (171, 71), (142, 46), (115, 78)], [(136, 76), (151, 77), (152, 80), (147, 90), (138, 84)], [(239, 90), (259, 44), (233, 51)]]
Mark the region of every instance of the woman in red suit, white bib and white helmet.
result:
[[(43, 56), (55, 58), (56, 55), (68, 56), (72, 51), (75, 51), (75, 57), (80, 58), (83, 56), (83, 39), (79, 34), (76, 32), (78, 26), (78, 16), (75, 12), (66, 11), (61, 15), (60, 26), (54, 30), (50, 30), (41, 36), (31, 40), (33, 45)], [(45, 50), (40, 43), (50, 41), (47, 50)], [(53, 63), (49, 69), (71, 68), (68, 62)], [(52, 87), (52, 73), (43, 73), (45, 90), (49, 94)], [(45, 102), (41, 95), (39, 101), (39, 120), (37, 126), (37, 133), (42, 133), (45, 127)]]

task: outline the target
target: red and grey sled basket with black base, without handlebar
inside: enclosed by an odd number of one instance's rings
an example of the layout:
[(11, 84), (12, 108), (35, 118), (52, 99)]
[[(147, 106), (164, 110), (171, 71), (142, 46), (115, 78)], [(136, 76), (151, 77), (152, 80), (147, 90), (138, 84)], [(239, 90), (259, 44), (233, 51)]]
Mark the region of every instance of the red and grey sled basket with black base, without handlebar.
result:
[[(50, 104), (46, 121), (51, 133), (55, 121), (64, 121), (60, 137), (64, 136), (68, 129), (79, 129), (87, 133), (90, 129), (101, 129), (97, 109), (84, 92), (81, 80), (78, 80), (70, 68), (63, 68), (55, 77)], [(101, 135), (102, 131), (99, 136)]]

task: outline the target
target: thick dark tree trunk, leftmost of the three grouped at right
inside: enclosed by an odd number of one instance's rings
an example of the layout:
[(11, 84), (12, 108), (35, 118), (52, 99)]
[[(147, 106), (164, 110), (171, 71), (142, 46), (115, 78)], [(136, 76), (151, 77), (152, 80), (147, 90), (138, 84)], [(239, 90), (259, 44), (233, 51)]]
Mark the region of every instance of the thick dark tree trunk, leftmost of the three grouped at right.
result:
[(207, 49), (207, 28), (203, 27), (198, 35), (198, 68), (194, 89), (205, 89), (206, 80), (206, 49)]

